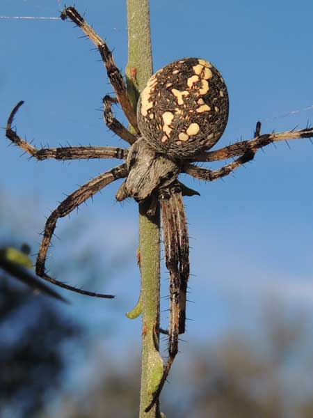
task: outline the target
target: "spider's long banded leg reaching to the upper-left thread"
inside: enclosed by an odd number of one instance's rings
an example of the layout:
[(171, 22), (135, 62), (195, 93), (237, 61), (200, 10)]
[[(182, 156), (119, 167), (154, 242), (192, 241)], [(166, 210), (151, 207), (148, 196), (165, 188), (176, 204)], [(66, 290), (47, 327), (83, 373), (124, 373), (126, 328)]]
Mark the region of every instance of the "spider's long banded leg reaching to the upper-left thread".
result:
[(109, 49), (108, 45), (102, 38), (95, 33), (93, 28), (79, 15), (77, 10), (74, 7), (67, 7), (61, 13), (61, 19), (66, 20), (67, 17), (77, 24), (81, 30), (86, 33), (88, 38), (96, 45), (99, 49), (102, 61), (106, 66), (106, 72), (108, 74), (109, 80), (115, 90), (116, 95), (118, 96), (118, 102), (120, 103), (129, 123), (134, 127), (136, 132), (139, 132), (137, 125), (136, 111), (134, 111), (131, 106), (131, 102), (127, 95), (127, 87), (125, 81), (122, 77), (122, 73), (115, 64), (115, 61), (112, 56), (112, 52)]

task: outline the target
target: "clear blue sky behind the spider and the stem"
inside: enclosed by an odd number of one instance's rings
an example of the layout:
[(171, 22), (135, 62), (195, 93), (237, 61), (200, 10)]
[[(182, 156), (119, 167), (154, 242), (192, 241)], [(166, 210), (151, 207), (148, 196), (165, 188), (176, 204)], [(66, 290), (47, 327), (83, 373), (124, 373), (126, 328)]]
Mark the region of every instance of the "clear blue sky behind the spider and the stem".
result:
[[(86, 12), (88, 22), (114, 48), (120, 68), (125, 68), (125, 1), (76, 0), (75, 5)], [(0, 15), (58, 16), (60, 8), (57, 0), (1, 0)], [(230, 93), (230, 120), (216, 148), (241, 137), (250, 139), (258, 120), (264, 133), (305, 127), (307, 120), (313, 121), (312, 110), (283, 115), (313, 104), (312, 13), (311, 0), (151, 1), (154, 69), (184, 56), (202, 57), (219, 68)], [(61, 20), (0, 20), (1, 126), (10, 109), (25, 100), (17, 129), (38, 146), (67, 141), (124, 145), (106, 130), (96, 110), (112, 88), (97, 52), (90, 51), (93, 45), (79, 36), (79, 29)], [(195, 275), (190, 281), (195, 304), (188, 307), (188, 317), (193, 318), (188, 344), (195, 336), (232, 327), (253, 330), (264, 300), (312, 314), (313, 146), (307, 140), (291, 141), (290, 146), (291, 150), (286, 144), (269, 146), (224, 181), (200, 183), (182, 177), (201, 193), (186, 199)], [(38, 242), (45, 216), (63, 194), (117, 164), (35, 162), (20, 155), (1, 134), (0, 188), (17, 218), (22, 210), (19, 232), (32, 242)], [(107, 249), (109, 240), (112, 254), (123, 246), (131, 248), (133, 263), (127, 263), (127, 272), (113, 275), (106, 283), (109, 288), (97, 284), (100, 288), (95, 289), (118, 294), (127, 310), (139, 286), (138, 216), (134, 202), (115, 202), (117, 187), (107, 187), (79, 217), (86, 221), (86, 242)], [(24, 219), (33, 218), (32, 213), (36, 221), (29, 231)], [(60, 231), (67, 222), (60, 222)], [(63, 254), (62, 241), (56, 247), (51, 263)], [(166, 278), (165, 268), (163, 273)], [(166, 286), (163, 281), (163, 295)], [(90, 301), (75, 296), (73, 300), (90, 307)], [(97, 320), (108, 320), (111, 308), (93, 303), (95, 311), (102, 311)], [(119, 327), (136, 341), (139, 321), (120, 318)]]

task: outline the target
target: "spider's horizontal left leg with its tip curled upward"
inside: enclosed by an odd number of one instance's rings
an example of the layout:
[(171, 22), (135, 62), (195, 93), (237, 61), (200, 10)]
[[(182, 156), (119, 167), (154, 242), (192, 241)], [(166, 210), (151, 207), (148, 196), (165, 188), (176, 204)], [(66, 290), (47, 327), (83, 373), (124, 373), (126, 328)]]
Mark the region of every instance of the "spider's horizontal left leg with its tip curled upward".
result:
[(127, 157), (127, 150), (125, 148), (116, 148), (113, 146), (65, 146), (61, 148), (35, 148), (29, 144), (12, 129), (12, 123), (19, 107), (24, 102), (18, 102), (11, 111), (6, 125), (6, 137), (13, 142), (13, 144), (22, 148), (26, 153), (31, 154), (37, 160), (46, 160), (47, 158), (54, 158), (56, 160), (83, 160), (89, 158), (118, 158), (125, 160)]

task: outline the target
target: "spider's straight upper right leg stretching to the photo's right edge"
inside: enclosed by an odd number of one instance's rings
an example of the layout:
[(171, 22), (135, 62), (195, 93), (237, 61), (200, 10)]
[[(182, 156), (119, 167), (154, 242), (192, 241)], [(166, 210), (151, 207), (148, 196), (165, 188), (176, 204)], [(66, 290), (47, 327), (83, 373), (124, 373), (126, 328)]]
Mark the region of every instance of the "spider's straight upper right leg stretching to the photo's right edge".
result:
[(217, 161), (227, 158), (237, 157), (249, 152), (256, 153), (259, 148), (275, 141), (286, 141), (289, 139), (311, 138), (313, 137), (313, 127), (302, 130), (276, 132), (273, 134), (263, 134), (248, 141), (240, 141), (225, 148), (216, 151), (207, 151), (199, 155), (195, 155), (191, 161)]

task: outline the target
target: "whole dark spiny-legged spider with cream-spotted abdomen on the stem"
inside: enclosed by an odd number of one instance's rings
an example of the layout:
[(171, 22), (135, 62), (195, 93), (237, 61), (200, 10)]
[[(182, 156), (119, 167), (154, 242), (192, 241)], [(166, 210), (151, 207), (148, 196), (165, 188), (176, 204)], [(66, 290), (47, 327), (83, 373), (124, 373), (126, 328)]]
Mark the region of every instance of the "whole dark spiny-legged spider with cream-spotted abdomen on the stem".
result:
[[(185, 332), (186, 291), (189, 277), (189, 245), (183, 196), (198, 194), (179, 182), (179, 173), (188, 173), (200, 180), (216, 180), (232, 173), (250, 161), (259, 148), (274, 141), (310, 138), (312, 128), (272, 134), (260, 133), (258, 122), (254, 139), (209, 150), (223, 134), (227, 124), (229, 101), (227, 87), (220, 72), (208, 61), (184, 58), (161, 68), (148, 80), (141, 92), (135, 110), (129, 100), (122, 73), (115, 65), (112, 52), (91, 26), (73, 7), (67, 7), (61, 18), (74, 24), (93, 41), (102, 57), (116, 98), (104, 96), (104, 121), (130, 147), (77, 146), (37, 149), (19, 137), (12, 123), (19, 102), (11, 112), (6, 127), (6, 137), (38, 160), (74, 160), (86, 158), (117, 158), (123, 164), (93, 180), (88, 181), (56, 208), (47, 219), (38, 252), (35, 272), (39, 277), (70, 291), (96, 297), (113, 297), (102, 293), (84, 291), (50, 277), (45, 270), (47, 251), (58, 218), (65, 217), (109, 183), (124, 178), (116, 199), (134, 198), (147, 202), (147, 216), (154, 215), (157, 204), (161, 206), (163, 242), (166, 268), (170, 274), (170, 320), (168, 330), (168, 360), (157, 391), (154, 392), (149, 411), (157, 402), (161, 389), (178, 351), (179, 334)], [(114, 116), (112, 105), (120, 104), (132, 133)], [(211, 162), (237, 157), (224, 167), (211, 171), (197, 167), (195, 162)]]

